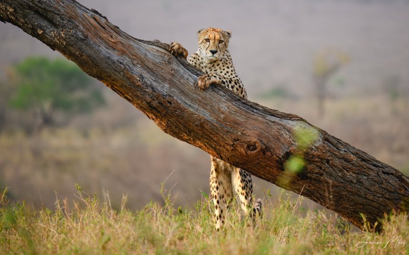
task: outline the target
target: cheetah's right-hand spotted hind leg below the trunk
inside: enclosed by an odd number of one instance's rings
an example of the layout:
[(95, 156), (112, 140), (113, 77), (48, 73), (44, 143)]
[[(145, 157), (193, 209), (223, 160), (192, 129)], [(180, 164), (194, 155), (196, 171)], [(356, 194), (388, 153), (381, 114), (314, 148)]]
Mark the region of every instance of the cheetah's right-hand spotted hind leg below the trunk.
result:
[(232, 173), (232, 188), (239, 197), (241, 209), (254, 220), (262, 212), (262, 200), (258, 198), (253, 205), (252, 175), (243, 169), (236, 168)]

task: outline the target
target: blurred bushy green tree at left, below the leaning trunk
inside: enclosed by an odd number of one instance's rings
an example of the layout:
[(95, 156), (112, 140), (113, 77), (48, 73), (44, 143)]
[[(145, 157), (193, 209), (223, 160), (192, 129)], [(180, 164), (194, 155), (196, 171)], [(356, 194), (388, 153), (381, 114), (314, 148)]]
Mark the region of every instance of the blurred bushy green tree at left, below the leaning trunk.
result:
[(16, 91), (9, 106), (34, 111), (38, 116), (35, 129), (54, 123), (56, 112), (65, 116), (92, 112), (105, 103), (101, 90), (76, 64), (65, 59), (30, 57), (13, 68), (12, 83)]

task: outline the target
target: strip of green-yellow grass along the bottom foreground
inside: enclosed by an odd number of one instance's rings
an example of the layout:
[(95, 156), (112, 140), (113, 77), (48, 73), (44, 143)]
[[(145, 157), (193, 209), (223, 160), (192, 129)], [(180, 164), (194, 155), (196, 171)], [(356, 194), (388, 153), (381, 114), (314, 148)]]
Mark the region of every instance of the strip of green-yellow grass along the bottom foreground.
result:
[[(158, 254), (309, 254), (407, 253), (407, 213), (384, 219), (384, 231), (352, 231), (339, 216), (301, 207), (284, 191), (269, 192), (263, 215), (253, 222), (233, 203), (221, 232), (216, 232), (213, 203), (203, 194), (193, 210), (174, 207), (162, 189), (164, 205), (149, 202), (140, 211), (112, 209), (109, 194), (100, 200), (76, 185), (74, 206), (55, 202), (55, 209), (34, 210), (0, 193), (0, 253), (158, 253)], [(268, 197), (268, 198), (267, 198)], [(277, 203), (278, 200), (278, 203)], [(273, 203), (276, 201), (276, 203)], [(273, 206), (275, 205), (275, 206)], [(373, 243), (370, 243), (373, 242)]]

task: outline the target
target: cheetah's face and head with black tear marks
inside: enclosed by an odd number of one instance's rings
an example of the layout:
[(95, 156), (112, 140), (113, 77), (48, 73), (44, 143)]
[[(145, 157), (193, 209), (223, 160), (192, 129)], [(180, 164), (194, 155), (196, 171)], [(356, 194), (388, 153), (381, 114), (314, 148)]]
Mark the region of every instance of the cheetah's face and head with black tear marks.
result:
[(199, 30), (197, 32), (197, 44), (200, 55), (207, 62), (220, 60), (228, 47), (231, 36), (232, 33), (230, 31), (223, 31), (221, 29), (207, 28)]

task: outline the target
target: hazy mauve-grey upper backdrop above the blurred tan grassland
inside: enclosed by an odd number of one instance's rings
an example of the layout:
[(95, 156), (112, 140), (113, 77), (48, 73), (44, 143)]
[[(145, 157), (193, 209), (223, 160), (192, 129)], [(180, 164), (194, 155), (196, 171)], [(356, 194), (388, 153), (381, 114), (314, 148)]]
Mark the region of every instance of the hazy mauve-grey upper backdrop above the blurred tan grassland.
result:
[[(337, 94), (379, 90), (395, 75), (409, 84), (408, 1), (107, 1), (81, 0), (134, 37), (178, 41), (192, 53), (196, 31), (233, 33), (230, 51), (249, 98), (283, 86), (313, 94), (312, 60), (323, 49), (345, 52), (351, 62), (334, 75)], [(28, 55), (54, 54), (11, 24), (0, 24), (0, 68)]]

